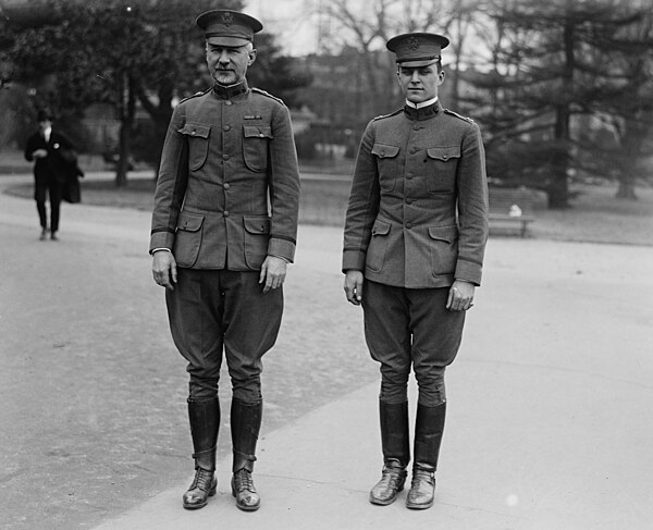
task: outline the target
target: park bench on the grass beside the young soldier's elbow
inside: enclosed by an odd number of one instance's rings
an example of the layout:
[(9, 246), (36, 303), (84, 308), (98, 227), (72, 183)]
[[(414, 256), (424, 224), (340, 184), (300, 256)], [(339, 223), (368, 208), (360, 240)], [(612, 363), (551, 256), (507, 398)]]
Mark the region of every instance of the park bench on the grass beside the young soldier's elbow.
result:
[(490, 230), (517, 230), (526, 237), (533, 215), (533, 200), (525, 188), (490, 187)]

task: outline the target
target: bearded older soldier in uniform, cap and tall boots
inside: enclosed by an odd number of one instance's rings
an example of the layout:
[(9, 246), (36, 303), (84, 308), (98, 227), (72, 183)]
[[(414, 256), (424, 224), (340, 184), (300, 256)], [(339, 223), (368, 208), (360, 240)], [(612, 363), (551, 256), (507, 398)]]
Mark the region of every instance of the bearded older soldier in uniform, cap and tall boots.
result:
[(172, 336), (190, 375), (196, 473), (184, 507), (201, 508), (215, 493), (224, 350), (233, 394), (232, 493), (238, 508), (256, 510), (261, 358), (276, 340), (286, 264), (295, 254), (297, 156), (287, 108), (245, 77), (261, 23), (227, 10), (196, 22), (215, 83), (182, 101), (170, 122), (155, 195), (152, 273), (167, 288)]

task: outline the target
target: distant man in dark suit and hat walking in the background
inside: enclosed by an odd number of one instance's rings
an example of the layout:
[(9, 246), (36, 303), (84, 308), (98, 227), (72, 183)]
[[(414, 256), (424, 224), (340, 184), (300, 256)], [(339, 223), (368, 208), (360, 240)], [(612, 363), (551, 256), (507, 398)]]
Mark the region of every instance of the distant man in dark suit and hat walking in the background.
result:
[(48, 215), (46, 199), (50, 196), (50, 237), (57, 239), (61, 206), (62, 186), (70, 172), (66, 157), (74, 149), (73, 144), (63, 134), (52, 131), (52, 116), (46, 110), (38, 112), (39, 131), (27, 139), (25, 159), (34, 164), (34, 199), (41, 226), (40, 238), (48, 235)]

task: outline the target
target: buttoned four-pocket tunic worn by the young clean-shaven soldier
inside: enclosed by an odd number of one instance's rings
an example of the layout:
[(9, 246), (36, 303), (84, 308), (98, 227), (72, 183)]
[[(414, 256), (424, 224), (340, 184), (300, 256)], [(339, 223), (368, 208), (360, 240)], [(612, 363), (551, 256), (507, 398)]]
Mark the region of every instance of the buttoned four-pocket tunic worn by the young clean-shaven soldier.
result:
[(488, 186), (479, 127), (431, 107), (372, 120), (347, 210), (343, 270), (408, 288), (481, 283)]

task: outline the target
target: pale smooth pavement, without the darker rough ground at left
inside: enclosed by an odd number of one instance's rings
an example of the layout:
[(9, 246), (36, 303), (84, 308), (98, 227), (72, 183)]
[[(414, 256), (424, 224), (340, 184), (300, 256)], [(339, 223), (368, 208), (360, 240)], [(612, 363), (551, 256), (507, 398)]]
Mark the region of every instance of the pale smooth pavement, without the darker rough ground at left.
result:
[[(36, 237), (32, 206), (0, 195), (0, 229), (30, 227)], [(143, 212), (64, 206), (62, 237), (120, 248), (144, 241), (148, 223)], [(299, 333), (321, 299), (362, 333), (360, 311), (338, 293), (341, 238), (336, 229), (300, 227), (287, 284), (288, 335)], [(436, 504), (429, 510), (407, 510), (405, 493), (387, 507), (368, 503), (381, 465), (378, 385), (361, 382), (263, 436), (256, 466), (259, 511), (235, 508), (225, 458), (219, 494), (206, 508), (181, 507), (188, 469), (147, 502), (108, 513), (95, 528), (652, 528), (652, 264), (650, 247), (490, 242), (484, 283), (447, 375), (447, 428)], [(341, 331), (328, 330), (334, 344)], [(307, 326), (298, 336), (311, 332)], [(361, 343), (350, 347), (359, 352)], [(289, 380), (288, 389), (301, 384)]]

